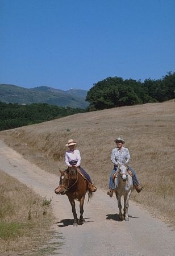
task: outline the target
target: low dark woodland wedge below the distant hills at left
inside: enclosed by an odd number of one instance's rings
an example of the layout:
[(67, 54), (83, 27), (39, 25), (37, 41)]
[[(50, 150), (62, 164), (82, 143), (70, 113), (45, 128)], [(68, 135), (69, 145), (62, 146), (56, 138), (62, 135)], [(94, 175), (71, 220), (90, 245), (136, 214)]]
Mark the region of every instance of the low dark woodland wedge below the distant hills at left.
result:
[(85, 112), (84, 109), (59, 107), (48, 104), (18, 105), (0, 102), (0, 131), (32, 125)]

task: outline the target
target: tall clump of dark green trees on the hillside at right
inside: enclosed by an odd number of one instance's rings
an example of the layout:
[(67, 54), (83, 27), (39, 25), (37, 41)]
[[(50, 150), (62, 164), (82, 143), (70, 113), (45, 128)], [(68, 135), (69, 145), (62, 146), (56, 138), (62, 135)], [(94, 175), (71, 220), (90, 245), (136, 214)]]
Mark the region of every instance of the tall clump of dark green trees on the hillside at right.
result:
[(122, 77), (107, 77), (87, 92), (88, 111), (130, 106), (148, 102), (163, 102), (175, 98), (175, 73), (163, 79), (146, 79), (144, 82)]

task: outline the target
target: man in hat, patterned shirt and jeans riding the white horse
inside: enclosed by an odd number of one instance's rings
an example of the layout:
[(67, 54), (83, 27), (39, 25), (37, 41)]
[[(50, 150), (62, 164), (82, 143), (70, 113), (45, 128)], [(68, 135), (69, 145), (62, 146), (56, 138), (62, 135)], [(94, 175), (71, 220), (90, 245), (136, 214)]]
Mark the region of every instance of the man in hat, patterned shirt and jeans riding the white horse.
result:
[[(110, 175), (110, 181), (109, 181), (109, 189), (110, 190), (107, 192), (107, 195), (109, 195), (110, 197), (113, 196), (113, 192), (115, 189), (115, 184), (113, 181), (113, 174), (115, 174), (119, 164), (122, 164), (122, 163), (128, 164), (131, 159), (130, 152), (129, 152), (128, 148), (123, 147), (123, 144), (125, 143), (124, 139), (117, 138), (117, 139), (115, 139), (114, 142), (116, 142), (116, 147), (112, 150), (112, 154), (111, 154), (111, 160), (114, 164), (114, 169)], [(129, 167), (129, 170), (133, 174), (134, 187), (135, 187), (136, 191), (139, 193), (143, 189), (143, 187), (140, 187), (139, 180), (136, 177), (135, 171), (131, 167)]]

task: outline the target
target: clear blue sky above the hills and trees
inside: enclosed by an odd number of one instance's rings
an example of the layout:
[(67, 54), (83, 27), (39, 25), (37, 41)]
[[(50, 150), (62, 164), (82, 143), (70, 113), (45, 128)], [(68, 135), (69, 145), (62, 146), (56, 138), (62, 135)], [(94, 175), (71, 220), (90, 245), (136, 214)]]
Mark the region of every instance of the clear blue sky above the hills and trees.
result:
[(175, 71), (174, 0), (0, 0), (0, 83), (89, 90)]

